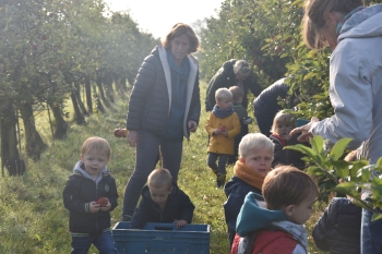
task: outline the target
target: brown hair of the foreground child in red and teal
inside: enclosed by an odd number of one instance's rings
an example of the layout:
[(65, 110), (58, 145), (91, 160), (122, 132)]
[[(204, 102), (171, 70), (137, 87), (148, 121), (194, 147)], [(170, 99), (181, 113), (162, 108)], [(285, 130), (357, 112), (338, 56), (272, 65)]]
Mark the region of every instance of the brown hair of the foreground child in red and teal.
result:
[(276, 210), (299, 205), (311, 193), (318, 196), (319, 188), (308, 173), (293, 166), (280, 166), (266, 174), (262, 193), (267, 208)]

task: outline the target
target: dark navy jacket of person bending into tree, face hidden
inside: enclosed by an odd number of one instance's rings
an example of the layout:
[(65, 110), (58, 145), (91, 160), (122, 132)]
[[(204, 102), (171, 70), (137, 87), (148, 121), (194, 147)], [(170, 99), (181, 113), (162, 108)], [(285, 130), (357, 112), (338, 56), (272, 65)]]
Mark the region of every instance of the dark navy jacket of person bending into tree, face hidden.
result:
[(253, 100), (254, 117), (260, 132), (270, 136), (273, 119), (283, 109), (278, 105), (279, 99), (285, 99), (288, 95), (289, 85), (285, 83), (286, 77), (276, 81)]

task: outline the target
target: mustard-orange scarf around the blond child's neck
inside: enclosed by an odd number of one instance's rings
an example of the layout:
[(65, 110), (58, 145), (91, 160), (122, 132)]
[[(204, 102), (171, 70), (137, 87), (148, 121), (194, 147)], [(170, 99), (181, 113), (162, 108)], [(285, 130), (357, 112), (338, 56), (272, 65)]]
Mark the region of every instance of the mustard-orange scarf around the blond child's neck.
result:
[(240, 161), (236, 161), (236, 165), (234, 167), (234, 174), (240, 178), (249, 185), (259, 190), (261, 190), (266, 176), (254, 171), (253, 169)]

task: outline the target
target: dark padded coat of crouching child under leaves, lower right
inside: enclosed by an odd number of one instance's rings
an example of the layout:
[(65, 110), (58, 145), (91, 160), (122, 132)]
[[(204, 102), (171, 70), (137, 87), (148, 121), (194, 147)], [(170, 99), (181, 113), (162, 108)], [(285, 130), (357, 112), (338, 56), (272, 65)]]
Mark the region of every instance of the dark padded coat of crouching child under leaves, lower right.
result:
[(362, 208), (345, 197), (334, 197), (314, 226), (315, 245), (331, 254), (359, 254)]

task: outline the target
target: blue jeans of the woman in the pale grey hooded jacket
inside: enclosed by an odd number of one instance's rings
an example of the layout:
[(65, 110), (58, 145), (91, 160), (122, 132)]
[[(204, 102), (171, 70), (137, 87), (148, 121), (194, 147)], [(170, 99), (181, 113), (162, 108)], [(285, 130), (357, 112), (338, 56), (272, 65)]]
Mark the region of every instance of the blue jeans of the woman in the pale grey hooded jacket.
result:
[(373, 213), (362, 209), (361, 254), (382, 253), (382, 219), (371, 221)]

